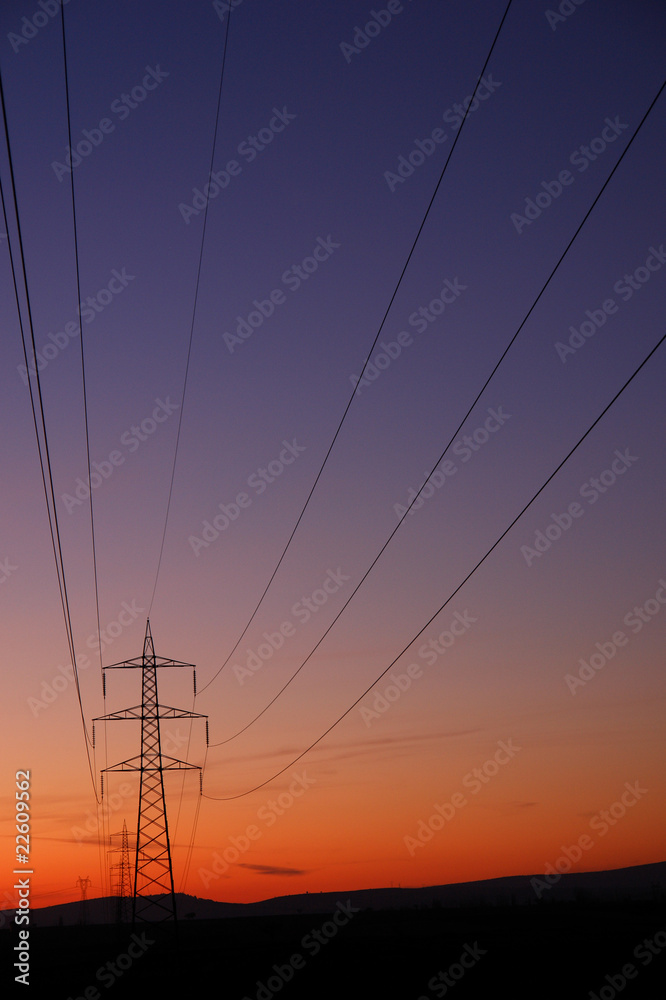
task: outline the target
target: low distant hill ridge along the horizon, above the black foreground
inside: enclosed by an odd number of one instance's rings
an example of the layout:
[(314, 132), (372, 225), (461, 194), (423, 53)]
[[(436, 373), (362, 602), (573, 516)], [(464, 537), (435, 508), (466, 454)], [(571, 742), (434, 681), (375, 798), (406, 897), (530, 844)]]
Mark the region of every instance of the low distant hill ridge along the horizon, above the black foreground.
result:
[[(176, 893), (179, 919), (218, 920), (228, 917), (288, 916), (331, 913), (339, 900), (350, 900), (360, 910), (395, 910), (430, 906), (473, 907), (544, 904), (549, 901), (620, 901), (664, 898), (666, 861), (601, 872), (551, 875), (508, 875), (479, 882), (457, 882), (423, 888), (390, 887), (340, 892), (308, 892), (275, 896), (256, 903), (224, 903)], [(116, 897), (98, 897), (86, 903), (90, 924), (113, 923)], [(72, 926), (80, 922), (81, 903), (59, 903), (34, 908), (33, 927)], [(14, 919), (14, 910), (0, 911), (0, 926)]]

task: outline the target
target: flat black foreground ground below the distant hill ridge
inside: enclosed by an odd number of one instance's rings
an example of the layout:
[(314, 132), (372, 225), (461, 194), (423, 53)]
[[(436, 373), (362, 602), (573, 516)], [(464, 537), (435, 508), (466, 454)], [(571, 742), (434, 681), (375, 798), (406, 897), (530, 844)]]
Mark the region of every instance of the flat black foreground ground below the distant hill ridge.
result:
[[(345, 899), (341, 897), (340, 902)], [(339, 914), (342, 922), (342, 911)], [(15, 930), (5, 930), (1, 935), (2, 994), (7, 984), (9, 995), (31, 1000), (191, 996), (224, 1000), (272, 1000), (273, 996), (284, 1000), (431, 1000), (447, 996), (463, 1000), (497, 995), (512, 1000), (589, 1000), (591, 991), (600, 1000), (620, 994), (623, 1000), (666, 996), (666, 933), (663, 937), (659, 933), (666, 931), (663, 902), (364, 910), (341, 927), (330, 922), (332, 916), (327, 912), (321, 916), (181, 920), (178, 943), (166, 925), (141, 925), (136, 928), (139, 939), (145, 930), (154, 943), (120, 977), (107, 963), (127, 953), (129, 927), (32, 928), (29, 987), (12, 982), (14, 973), (6, 956), (11, 950), (10, 936), (11, 944), (15, 943)], [(323, 944), (307, 936), (312, 931), (323, 933)], [(650, 952), (641, 950), (641, 943), (655, 935), (663, 942), (663, 951), (651, 956), (647, 964)], [(476, 946), (485, 954), (477, 951), (474, 958)], [(638, 956), (634, 955), (636, 947)], [(135, 946), (134, 951), (138, 950)], [(659, 952), (658, 943), (654, 950)], [(294, 971), (288, 963), (297, 953), (302, 961), (296, 961), (301, 967)], [(462, 966), (455, 963), (463, 953), (471, 967), (456, 981)], [(128, 961), (121, 957), (120, 964)], [(636, 975), (623, 984), (617, 977), (622, 977), (627, 963)], [(283, 975), (276, 973), (274, 965)], [(433, 981), (451, 966), (454, 978), (449, 979), (449, 986)], [(102, 978), (97, 977), (100, 969)], [(117, 966), (116, 972), (121, 972)], [(616, 977), (614, 985), (607, 976)]]

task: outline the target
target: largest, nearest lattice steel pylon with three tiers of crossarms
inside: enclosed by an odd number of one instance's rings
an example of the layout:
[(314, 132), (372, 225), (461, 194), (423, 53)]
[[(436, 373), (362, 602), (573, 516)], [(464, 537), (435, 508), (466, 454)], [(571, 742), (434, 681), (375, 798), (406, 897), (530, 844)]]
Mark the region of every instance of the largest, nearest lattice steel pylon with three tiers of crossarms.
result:
[[(104, 671), (140, 669), (142, 674), (141, 704), (133, 708), (122, 709), (119, 712), (111, 712), (109, 715), (99, 716), (94, 720), (95, 722), (115, 722), (120, 719), (137, 719), (141, 722), (140, 755), (104, 768), (104, 772), (138, 771), (141, 775), (134, 864), (133, 924), (141, 920), (149, 922), (176, 920), (176, 896), (164, 795), (164, 772), (183, 769), (197, 769), (201, 772), (198, 764), (189, 764), (162, 753), (160, 720), (207, 718), (198, 712), (187, 712), (179, 708), (160, 705), (157, 695), (157, 670), (159, 667), (191, 667), (194, 670), (193, 663), (183, 663), (180, 660), (169, 660), (155, 656), (150, 620), (147, 620), (143, 654), (133, 660), (124, 660), (122, 663), (113, 663), (103, 668)], [(103, 676), (106, 691), (106, 674)], [(194, 692), (196, 694), (196, 674), (194, 674)]]

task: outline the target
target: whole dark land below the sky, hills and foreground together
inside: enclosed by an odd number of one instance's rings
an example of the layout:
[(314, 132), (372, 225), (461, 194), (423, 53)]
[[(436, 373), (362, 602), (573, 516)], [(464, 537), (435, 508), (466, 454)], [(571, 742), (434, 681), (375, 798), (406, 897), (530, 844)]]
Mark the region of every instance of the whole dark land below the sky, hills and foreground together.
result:
[[(170, 925), (46, 926), (40, 910), (42, 926), (31, 925), (31, 986), (17, 990), (40, 1000), (462, 1000), (500, 991), (589, 1000), (605, 988), (603, 1000), (611, 990), (656, 1000), (666, 981), (665, 873), (660, 864), (563, 876), (541, 900), (527, 877), (244, 906), (180, 897), (177, 937)], [(103, 901), (90, 903), (92, 915)], [(218, 907), (226, 915), (211, 918)], [(48, 912), (64, 919), (77, 908)], [(6, 944), (10, 936), (14, 928), (2, 932)]]

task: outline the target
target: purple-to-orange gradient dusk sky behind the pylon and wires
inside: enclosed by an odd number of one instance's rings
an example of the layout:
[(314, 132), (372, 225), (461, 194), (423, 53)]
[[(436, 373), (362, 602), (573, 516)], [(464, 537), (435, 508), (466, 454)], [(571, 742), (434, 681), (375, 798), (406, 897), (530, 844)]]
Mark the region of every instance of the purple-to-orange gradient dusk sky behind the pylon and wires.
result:
[[(209, 720), (208, 750), (201, 720), (162, 729), (205, 765), (203, 797), (166, 778), (197, 896), (533, 874), (584, 835), (575, 870), (664, 860), (666, 347), (586, 433), (664, 333), (663, 6), (513, 0), (487, 66), (494, 0), (232, 7), (71, 0), (71, 155), (60, 14), (0, 13), (89, 730), (139, 702), (137, 671), (104, 699), (101, 665), (150, 616), (197, 670), (195, 700), (160, 671), (161, 701)], [(0, 893), (26, 769), (39, 906), (110, 891), (98, 831), (136, 827), (138, 783), (96, 806), (4, 139), (0, 177)], [(136, 723), (97, 723), (98, 793), (138, 750)]]

